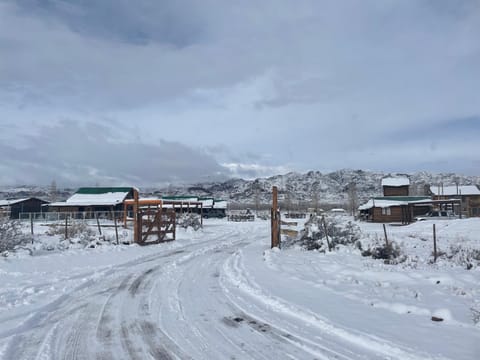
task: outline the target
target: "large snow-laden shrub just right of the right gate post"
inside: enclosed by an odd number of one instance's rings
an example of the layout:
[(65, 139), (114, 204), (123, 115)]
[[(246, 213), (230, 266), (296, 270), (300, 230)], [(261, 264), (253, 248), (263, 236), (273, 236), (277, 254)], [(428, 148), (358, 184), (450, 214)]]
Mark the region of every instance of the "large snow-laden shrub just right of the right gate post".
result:
[(306, 250), (326, 250), (327, 237), (332, 249), (338, 245), (354, 245), (360, 239), (360, 228), (351, 221), (345, 222), (336, 217), (325, 218), (325, 224), (323, 221), (322, 217), (312, 216), (295, 243)]

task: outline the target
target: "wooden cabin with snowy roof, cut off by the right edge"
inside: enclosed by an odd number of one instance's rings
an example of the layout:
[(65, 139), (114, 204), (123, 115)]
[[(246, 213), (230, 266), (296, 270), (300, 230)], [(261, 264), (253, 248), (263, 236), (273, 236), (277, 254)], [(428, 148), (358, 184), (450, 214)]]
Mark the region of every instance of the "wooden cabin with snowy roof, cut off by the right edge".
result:
[(429, 194), (432, 196), (432, 199), (437, 201), (459, 200), (461, 215), (480, 217), (480, 189), (476, 185), (430, 186)]

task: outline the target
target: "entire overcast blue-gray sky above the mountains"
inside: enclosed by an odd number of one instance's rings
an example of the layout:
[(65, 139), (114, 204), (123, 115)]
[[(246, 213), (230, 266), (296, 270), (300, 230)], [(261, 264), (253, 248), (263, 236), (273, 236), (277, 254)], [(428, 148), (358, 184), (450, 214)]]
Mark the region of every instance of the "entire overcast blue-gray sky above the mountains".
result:
[(480, 175), (479, 0), (0, 0), (0, 184)]

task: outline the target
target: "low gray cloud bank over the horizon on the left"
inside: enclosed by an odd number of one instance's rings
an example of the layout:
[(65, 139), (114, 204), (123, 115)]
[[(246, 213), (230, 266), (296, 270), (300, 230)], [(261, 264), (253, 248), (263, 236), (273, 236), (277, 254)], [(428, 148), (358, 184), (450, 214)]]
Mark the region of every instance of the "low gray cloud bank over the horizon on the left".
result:
[(4, 180), (22, 184), (134, 185), (211, 180), (227, 174), (213, 158), (176, 142), (118, 142), (113, 128), (62, 121), (26, 136), (29, 146), (1, 145)]

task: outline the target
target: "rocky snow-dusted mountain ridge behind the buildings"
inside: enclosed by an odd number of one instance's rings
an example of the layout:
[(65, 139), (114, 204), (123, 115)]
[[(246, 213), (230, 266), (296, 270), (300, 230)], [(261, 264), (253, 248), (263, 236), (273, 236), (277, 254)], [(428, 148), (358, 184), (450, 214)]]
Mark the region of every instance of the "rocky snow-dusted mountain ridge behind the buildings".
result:
[(348, 200), (348, 189), (354, 184), (359, 202), (372, 196), (381, 196), (381, 180), (386, 176), (407, 176), (410, 179), (411, 195), (424, 195), (425, 185), (477, 185), (480, 176), (463, 176), (454, 173), (412, 174), (383, 173), (363, 170), (338, 170), (330, 173), (309, 171), (305, 174), (288, 173), (255, 180), (230, 179), (217, 183), (198, 183), (192, 186), (170, 186), (156, 190), (163, 194), (195, 194), (213, 196), (231, 202), (253, 204), (269, 203), (272, 186), (277, 186), (283, 201), (314, 202), (320, 204), (344, 204)]

